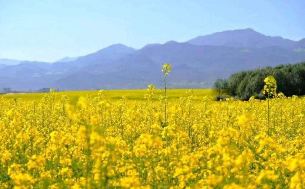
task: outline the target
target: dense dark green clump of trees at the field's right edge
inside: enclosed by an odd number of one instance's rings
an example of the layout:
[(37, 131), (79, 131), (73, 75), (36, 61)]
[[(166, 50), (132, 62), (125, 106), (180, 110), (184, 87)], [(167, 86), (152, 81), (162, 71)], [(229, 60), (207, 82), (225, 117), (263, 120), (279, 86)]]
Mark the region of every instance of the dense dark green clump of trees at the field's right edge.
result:
[(277, 92), (286, 96), (305, 94), (305, 62), (240, 71), (227, 79), (217, 79), (213, 88), (218, 96), (229, 95), (241, 100), (248, 100), (251, 96), (264, 99), (264, 78), (268, 75), (276, 79)]

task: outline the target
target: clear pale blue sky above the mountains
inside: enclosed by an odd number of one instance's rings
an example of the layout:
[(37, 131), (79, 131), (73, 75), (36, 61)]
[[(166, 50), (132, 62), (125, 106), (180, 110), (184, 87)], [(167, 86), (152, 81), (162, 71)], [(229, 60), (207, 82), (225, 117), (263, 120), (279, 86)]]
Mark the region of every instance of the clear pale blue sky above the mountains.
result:
[(304, 0), (0, 0), (0, 58), (53, 62), (243, 28), (300, 40), (304, 10)]

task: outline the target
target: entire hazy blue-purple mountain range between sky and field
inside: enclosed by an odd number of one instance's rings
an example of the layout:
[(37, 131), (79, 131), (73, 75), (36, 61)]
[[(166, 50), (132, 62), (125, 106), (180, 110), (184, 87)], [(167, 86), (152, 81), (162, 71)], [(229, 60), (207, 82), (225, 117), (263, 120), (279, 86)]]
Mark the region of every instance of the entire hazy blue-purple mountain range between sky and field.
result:
[[(17, 60), (18, 61), (18, 60)], [(271, 37), (253, 29), (217, 32), (187, 42), (133, 49), (111, 45), (54, 63), (0, 59), (0, 89), (136, 89), (161, 84), (164, 62), (172, 65), (171, 88), (210, 88), (216, 78), (258, 67), (305, 61), (305, 38)]]

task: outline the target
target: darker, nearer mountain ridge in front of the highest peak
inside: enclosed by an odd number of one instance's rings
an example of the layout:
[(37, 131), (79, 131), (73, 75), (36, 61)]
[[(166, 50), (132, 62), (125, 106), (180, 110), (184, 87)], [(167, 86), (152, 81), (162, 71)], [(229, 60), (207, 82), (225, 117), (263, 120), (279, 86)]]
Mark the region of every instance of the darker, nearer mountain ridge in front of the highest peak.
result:
[[(145, 88), (149, 83), (158, 86), (162, 79), (162, 64), (169, 62), (173, 67), (169, 81), (175, 87), (187, 88), (188, 86), (184, 85), (187, 82), (197, 87), (211, 87), (216, 78), (227, 77), (236, 71), (302, 60), (305, 60), (305, 53), (283, 47), (248, 48), (245, 51), (243, 47), (170, 42), (145, 46), (135, 53), (113, 61), (112, 69), (100, 66), (94, 67), (94, 71), (87, 70), (67, 76), (56, 82), (56, 86), (66, 88), (69, 86), (67, 81), (75, 80), (82, 84), (79, 87), (70, 85), (70, 90), (85, 89), (86, 80), (92, 81), (88, 84), (90, 89)], [(98, 71), (102, 68), (108, 69), (108, 73)]]

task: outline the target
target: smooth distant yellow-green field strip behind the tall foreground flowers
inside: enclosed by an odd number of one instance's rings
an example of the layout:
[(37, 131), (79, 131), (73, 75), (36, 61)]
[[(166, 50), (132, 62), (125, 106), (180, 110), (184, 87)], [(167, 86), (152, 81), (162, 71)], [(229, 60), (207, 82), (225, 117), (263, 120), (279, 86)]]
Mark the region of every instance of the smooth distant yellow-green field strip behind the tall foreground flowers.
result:
[[(188, 89), (170, 89), (168, 100), (178, 99), (181, 96), (185, 95)], [(212, 89), (193, 89), (194, 93), (197, 96), (197, 100), (202, 100), (204, 96), (214, 96)], [(63, 91), (57, 92), (55, 95), (55, 100), (59, 100), (62, 95), (67, 95), (69, 97), (69, 103), (75, 105), (80, 96), (85, 97), (86, 95), (97, 96), (98, 90), (92, 91)], [(120, 100), (123, 96), (125, 96), (128, 100), (145, 100), (143, 97), (147, 93), (146, 89), (127, 89), (127, 90), (107, 90), (107, 98), (109, 100)], [(156, 89), (155, 96), (153, 96), (154, 100), (158, 100), (159, 96), (162, 94), (161, 89)], [(12, 100), (15, 98), (20, 98), (24, 101), (37, 100), (41, 99), (45, 93), (15, 93), (15, 94), (3, 94), (0, 97), (4, 97), (7, 100)]]

